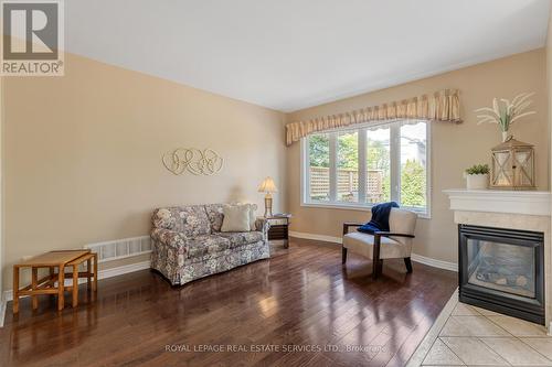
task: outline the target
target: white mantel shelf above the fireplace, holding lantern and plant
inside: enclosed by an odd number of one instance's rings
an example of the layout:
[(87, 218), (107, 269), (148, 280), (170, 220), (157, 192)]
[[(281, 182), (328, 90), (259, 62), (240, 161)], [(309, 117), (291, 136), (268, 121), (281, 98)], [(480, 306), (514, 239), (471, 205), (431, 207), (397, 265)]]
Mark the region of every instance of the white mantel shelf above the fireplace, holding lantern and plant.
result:
[(549, 191), (444, 190), (450, 209), (550, 216)]

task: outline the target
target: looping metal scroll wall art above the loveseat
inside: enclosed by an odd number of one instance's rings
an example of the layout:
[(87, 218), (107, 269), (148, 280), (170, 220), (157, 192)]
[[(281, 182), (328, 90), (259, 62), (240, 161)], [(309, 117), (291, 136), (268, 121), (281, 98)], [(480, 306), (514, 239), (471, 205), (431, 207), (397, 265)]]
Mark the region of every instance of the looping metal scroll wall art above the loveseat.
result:
[(176, 175), (185, 171), (210, 176), (222, 170), (224, 160), (212, 149), (178, 148), (163, 154), (163, 164)]

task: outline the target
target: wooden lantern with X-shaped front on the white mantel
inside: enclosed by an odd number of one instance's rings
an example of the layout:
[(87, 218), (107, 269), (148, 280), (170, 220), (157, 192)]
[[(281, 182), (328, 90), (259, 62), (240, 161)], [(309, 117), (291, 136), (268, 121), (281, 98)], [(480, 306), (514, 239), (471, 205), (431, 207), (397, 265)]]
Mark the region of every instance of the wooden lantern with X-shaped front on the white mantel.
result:
[(533, 145), (509, 137), (492, 148), (490, 187), (501, 190), (533, 190)]

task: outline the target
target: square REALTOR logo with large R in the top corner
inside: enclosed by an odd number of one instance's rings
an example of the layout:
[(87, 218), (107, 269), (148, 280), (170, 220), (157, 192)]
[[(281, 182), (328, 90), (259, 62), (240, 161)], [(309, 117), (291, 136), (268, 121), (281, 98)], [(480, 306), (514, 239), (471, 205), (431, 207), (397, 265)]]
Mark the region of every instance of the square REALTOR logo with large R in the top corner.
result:
[(1, 1), (6, 76), (63, 75), (63, 2)]

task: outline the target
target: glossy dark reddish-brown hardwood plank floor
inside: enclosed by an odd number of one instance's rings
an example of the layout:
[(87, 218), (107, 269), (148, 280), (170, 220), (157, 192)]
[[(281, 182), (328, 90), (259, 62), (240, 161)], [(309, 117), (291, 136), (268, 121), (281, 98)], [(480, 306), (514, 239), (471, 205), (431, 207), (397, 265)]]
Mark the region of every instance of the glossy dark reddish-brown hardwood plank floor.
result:
[[(269, 260), (171, 288), (145, 270), (102, 280), (96, 302), (8, 304), (1, 366), (403, 366), (457, 283), (402, 260), (383, 276), (340, 247), (293, 240)], [(232, 350), (233, 348), (233, 350)], [(230, 349), (230, 350), (229, 350)]]

